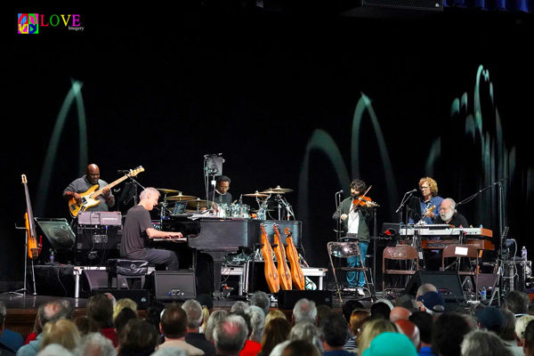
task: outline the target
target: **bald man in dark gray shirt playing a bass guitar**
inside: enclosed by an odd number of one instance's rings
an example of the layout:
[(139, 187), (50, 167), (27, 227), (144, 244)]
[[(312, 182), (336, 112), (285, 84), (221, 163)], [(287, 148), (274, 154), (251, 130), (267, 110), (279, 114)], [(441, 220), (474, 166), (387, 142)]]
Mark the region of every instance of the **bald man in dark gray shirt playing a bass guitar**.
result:
[[(95, 164), (87, 166), (87, 172), (80, 178), (70, 182), (69, 186), (63, 190), (63, 198), (70, 200), (74, 198), (78, 204), (82, 204), (82, 195), (93, 185), (105, 187), (108, 182), (100, 179), (100, 168)], [(115, 206), (115, 197), (109, 188), (102, 190), (97, 197), (101, 202), (96, 206), (87, 207), (85, 211), (109, 211), (109, 207)]]

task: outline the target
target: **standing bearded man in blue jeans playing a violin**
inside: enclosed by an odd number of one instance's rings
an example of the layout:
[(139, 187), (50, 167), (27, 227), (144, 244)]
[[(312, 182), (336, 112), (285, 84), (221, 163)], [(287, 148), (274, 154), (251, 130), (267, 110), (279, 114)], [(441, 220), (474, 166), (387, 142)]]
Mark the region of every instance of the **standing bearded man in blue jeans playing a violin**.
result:
[[(360, 179), (355, 179), (351, 183), (351, 197), (345, 198), (337, 207), (336, 213), (332, 219), (341, 223), (342, 234), (344, 238), (348, 236), (357, 236), (359, 239), (360, 254), (365, 264), (369, 245), (369, 227), (368, 224), (373, 219), (372, 207), (376, 206), (371, 199), (364, 195), (367, 185)], [(343, 239), (345, 240), (345, 239)], [(348, 239), (346, 239), (348, 240)], [(360, 258), (357, 256), (347, 258), (347, 267), (360, 266)], [(347, 272), (348, 290), (355, 290), (358, 295), (365, 296), (363, 287), (365, 287), (365, 276), (362, 272)]]

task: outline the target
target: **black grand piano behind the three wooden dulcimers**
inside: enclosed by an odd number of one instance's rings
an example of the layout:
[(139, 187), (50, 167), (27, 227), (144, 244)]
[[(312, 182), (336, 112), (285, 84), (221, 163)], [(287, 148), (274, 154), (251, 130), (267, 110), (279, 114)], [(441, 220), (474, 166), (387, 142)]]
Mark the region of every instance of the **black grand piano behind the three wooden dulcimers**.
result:
[(213, 258), (212, 292), (214, 295), (220, 295), (221, 270), (225, 257), (236, 254), (243, 248), (261, 247), (261, 223), (265, 224), (265, 231), (271, 244), (276, 223), (282, 243), (286, 242), (284, 231), (288, 228), (295, 247), (300, 247), (302, 222), (298, 221), (212, 217), (191, 220), (186, 216), (174, 216), (162, 224), (162, 230), (182, 231), (182, 234), (188, 237), (188, 245), (195, 250), (195, 253), (210, 255)]

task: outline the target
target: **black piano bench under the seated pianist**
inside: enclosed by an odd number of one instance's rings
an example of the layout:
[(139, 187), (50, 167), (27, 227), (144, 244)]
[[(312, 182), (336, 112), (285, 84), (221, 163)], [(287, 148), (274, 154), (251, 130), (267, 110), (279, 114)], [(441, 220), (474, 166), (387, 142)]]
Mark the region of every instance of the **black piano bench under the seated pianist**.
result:
[[(145, 276), (149, 272), (149, 262), (144, 260), (128, 260), (125, 258), (110, 258), (106, 263), (108, 272), (108, 288), (113, 286), (113, 279), (117, 280), (117, 289), (121, 289), (117, 276), (126, 279), (128, 289), (141, 289), (144, 285)], [(134, 283), (140, 282), (141, 287), (134, 288)]]

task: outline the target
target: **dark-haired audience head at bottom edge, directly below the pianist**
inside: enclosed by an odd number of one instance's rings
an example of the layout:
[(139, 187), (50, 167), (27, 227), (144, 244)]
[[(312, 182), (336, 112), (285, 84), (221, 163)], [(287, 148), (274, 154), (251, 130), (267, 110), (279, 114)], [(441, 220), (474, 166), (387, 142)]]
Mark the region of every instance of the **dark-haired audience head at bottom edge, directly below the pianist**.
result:
[(159, 333), (148, 320), (128, 321), (118, 336), (117, 355), (148, 356), (159, 344)]

